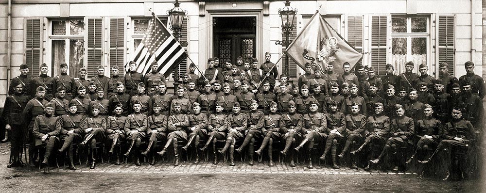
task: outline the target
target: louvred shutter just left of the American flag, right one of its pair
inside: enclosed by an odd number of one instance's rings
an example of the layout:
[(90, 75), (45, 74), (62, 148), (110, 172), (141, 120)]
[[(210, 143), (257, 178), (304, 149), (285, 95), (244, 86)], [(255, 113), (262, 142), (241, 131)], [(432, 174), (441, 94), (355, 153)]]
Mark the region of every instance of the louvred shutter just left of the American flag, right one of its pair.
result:
[[(125, 19), (124, 18), (111, 18), (110, 19), (110, 69), (111, 66), (118, 65), (121, 69), (120, 73), (123, 75), (125, 70), (122, 70), (125, 62), (123, 53), (125, 50), (124, 37), (125, 37)], [(110, 70), (110, 77), (112, 76)]]

